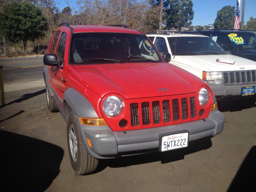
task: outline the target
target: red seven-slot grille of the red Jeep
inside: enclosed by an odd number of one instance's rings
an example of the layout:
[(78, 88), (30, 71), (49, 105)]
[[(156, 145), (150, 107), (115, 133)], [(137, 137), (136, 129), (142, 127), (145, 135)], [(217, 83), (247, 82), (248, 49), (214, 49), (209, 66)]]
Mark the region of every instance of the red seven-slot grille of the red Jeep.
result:
[[(171, 105), (170, 105), (171, 104)], [(141, 105), (141, 108), (139, 106)], [(130, 104), (131, 125), (160, 124), (196, 118), (195, 97)], [(151, 122), (152, 121), (152, 122)]]

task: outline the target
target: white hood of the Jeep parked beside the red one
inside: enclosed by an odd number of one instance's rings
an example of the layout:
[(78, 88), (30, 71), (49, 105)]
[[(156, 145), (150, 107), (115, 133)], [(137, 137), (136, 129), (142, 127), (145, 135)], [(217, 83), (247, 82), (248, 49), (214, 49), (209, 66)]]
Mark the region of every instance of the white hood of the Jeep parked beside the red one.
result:
[[(216, 62), (216, 60), (222, 62)], [(234, 64), (228, 64), (228, 63)], [(201, 71), (238, 71), (238, 70), (254, 70), (256, 62), (246, 58), (226, 54), (226, 55), (196, 55), (196, 56), (175, 56), (172, 58), (172, 64), (182, 64), (189, 68), (195, 68)]]

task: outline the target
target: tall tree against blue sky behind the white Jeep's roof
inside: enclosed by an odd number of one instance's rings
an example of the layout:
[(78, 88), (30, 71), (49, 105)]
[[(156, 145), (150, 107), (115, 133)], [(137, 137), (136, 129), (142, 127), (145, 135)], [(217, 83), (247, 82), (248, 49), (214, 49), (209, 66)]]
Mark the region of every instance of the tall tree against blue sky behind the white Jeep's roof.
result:
[[(151, 0), (151, 5), (159, 6), (160, 0)], [(164, 0), (163, 21), (166, 29), (188, 27), (194, 18), (192, 0)]]

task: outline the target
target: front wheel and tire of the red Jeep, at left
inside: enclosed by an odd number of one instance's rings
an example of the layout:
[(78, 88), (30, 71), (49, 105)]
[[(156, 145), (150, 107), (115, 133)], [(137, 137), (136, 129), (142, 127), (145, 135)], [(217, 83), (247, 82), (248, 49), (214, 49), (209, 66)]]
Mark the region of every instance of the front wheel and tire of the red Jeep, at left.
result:
[(80, 175), (94, 172), (98, 167), (98, 159), (86, 151), (72, 114), (68, 116), (67, 139), (70, 162), (74, 171)]

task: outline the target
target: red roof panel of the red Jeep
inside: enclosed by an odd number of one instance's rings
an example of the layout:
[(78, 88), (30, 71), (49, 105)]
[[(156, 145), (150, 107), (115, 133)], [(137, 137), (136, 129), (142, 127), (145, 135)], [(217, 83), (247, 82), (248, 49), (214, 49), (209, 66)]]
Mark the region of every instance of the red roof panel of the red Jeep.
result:
[[(63, 26), (61, 26), (63, 27)], [(82, 32), (116, 32), (116, 33), (133, 33), (141, 34), (141, 32), (132, 30), (129, 28), (123, 27), (114, 27), (114, 26), (96, 26), (96, 25), (71, 25), (71, 28), (74, 29), (74, 33)]]

